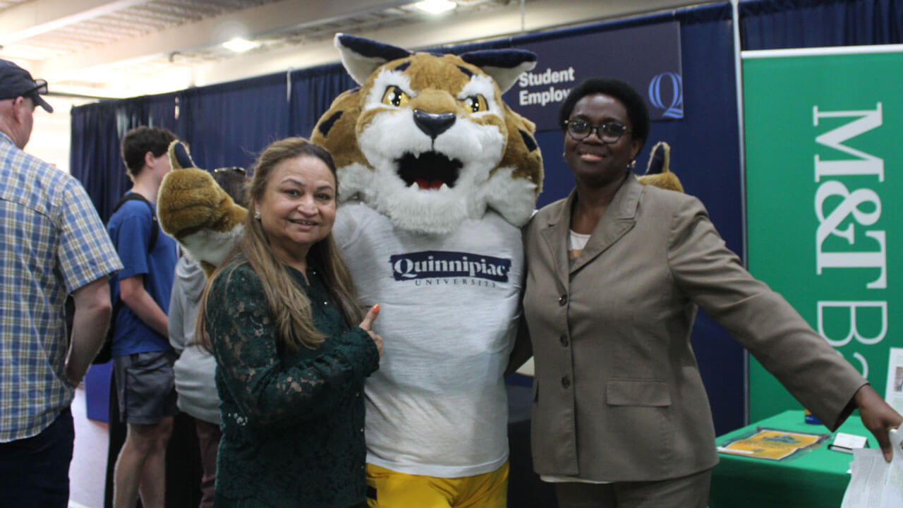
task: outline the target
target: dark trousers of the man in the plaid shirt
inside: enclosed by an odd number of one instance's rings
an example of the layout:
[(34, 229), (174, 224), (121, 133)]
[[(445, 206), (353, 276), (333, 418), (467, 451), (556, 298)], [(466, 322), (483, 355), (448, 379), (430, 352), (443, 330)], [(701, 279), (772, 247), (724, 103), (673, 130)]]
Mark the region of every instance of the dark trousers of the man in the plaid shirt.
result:
[(72, 412), (66, 408), (37, 436), (0, 443), (0, 506), (69, 506), (74, 440)]

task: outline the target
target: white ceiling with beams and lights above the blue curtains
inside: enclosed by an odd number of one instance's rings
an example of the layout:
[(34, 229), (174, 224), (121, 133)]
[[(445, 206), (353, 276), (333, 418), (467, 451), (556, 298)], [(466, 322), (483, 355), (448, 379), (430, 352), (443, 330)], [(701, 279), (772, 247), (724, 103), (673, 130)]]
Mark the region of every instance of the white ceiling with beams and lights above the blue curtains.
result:
[[(133, 97), (338, 61), (337, 32), (414, 50), (708, 2), (456, 3), (433, 16), (394, 0), (0, 0), (0, 58), (51, 93)], [(221, 47), (238, 36), (261, 45)]]

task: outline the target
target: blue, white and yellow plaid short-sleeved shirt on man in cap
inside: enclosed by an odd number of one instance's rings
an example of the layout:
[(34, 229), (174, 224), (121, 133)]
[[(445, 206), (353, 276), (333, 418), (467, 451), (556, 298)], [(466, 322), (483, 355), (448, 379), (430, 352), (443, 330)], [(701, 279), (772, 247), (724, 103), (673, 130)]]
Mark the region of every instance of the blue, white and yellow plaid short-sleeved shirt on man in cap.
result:
[(66, 295), (121, 268), (81, 184), (0, 132), (0, 442), (70, 405)]

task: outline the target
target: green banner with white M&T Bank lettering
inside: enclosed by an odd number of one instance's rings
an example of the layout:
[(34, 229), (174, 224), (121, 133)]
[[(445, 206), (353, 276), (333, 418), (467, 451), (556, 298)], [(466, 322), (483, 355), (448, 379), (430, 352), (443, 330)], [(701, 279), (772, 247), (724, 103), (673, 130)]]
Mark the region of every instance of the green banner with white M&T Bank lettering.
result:
[[(901, 78), (903, 46), (743, 52), (749, 271), (882, 396), (903, 376)], [(749, 363), (751, 421), (800, 409)]]

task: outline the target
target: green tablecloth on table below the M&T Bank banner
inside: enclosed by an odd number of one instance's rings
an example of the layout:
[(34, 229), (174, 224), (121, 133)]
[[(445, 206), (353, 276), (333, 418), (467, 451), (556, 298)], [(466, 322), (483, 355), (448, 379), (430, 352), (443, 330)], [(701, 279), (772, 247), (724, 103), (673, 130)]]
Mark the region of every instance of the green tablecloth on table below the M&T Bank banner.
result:
[[(752, 434), (756, 428), (830, 434), (824, 425), (805, 423), (802, 409), (790, 410), (718, 437), (719, 446)], [(838, 432), (869, 437), (878, 442), (854, 412)], [(709, 508), (839, 508), (850, 484), (852, 455), (828, 449), (833, 435), (813, 448), (781, 461), (720, 453), (712, 469)]]

